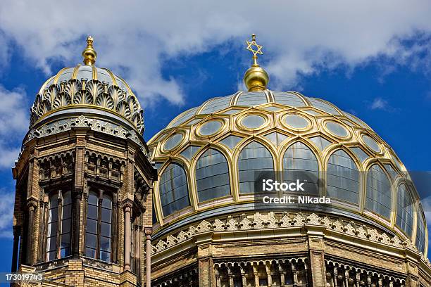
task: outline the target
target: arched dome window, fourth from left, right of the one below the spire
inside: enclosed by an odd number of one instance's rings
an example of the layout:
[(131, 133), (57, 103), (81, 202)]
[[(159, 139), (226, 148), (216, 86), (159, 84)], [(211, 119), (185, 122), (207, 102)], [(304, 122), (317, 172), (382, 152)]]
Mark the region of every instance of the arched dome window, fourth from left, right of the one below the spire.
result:
[(300, 141), (289, 146), (283, 156), (283, 181), (304, 182), (304, 192), (317, 195), (318, 178), (318, 161), (311, 149)]

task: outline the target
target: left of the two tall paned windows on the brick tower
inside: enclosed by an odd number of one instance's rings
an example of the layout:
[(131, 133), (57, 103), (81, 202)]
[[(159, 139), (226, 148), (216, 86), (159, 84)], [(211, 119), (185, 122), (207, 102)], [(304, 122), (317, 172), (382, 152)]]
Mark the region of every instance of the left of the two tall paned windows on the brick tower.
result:
[(71, 208), (70, 191), (63, 193), (58, 191), (49, 197), (46, 232), (46, 260), (48, 261), (70, 255)]

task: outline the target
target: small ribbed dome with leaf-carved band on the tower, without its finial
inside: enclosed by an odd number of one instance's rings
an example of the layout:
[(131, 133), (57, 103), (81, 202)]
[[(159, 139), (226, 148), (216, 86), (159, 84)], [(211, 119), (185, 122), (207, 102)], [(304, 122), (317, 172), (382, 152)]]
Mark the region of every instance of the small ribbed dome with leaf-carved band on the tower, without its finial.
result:
[(120, 115), (142, 134), (143, 111), (129, 85), (105, 68), (63, 68), (39, 90), (30, 109), (30, 127), (54, 110), (94, 107)]

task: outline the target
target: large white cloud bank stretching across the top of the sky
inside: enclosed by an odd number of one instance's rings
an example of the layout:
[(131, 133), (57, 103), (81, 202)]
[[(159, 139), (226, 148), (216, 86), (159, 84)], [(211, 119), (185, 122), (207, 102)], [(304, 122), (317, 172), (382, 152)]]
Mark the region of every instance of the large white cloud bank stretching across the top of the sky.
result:
[[(165, 79), (166, 58), (193, 55), (227, 39), (244, 42), (251, 32), (272, 88), (298, 87), (299, 74), (322, 68), (354, 68), (376, 56), (391, 65), (423, 63), (427, 42), (406, 49), (401, 40), (431, 30), (430, 1), (4, 1), (0, 30), (23, 55), (51, 74), (50, 60), (80, 60), (83, 36), (93, 34), (99, 65), (129, 80), (145, 105), (185, 100), (181, 82)], [(246, 51), (244, 51), (246, 53)], [(416, 60), (415, 60), (416, 59)]]

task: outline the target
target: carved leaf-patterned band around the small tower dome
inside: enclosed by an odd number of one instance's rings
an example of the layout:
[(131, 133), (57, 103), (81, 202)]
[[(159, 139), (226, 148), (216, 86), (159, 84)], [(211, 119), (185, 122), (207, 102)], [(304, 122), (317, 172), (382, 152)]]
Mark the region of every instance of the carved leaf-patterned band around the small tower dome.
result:
[(130, 120), (141, 134), (144, 131), (143, 110), (136, 96), (96, 79), (69, 79), (61, 84), (51, 84), (42, 94), (37, 94), (30, 108), (30, 127), (49, 111), (74, 105), (111, 110)]

